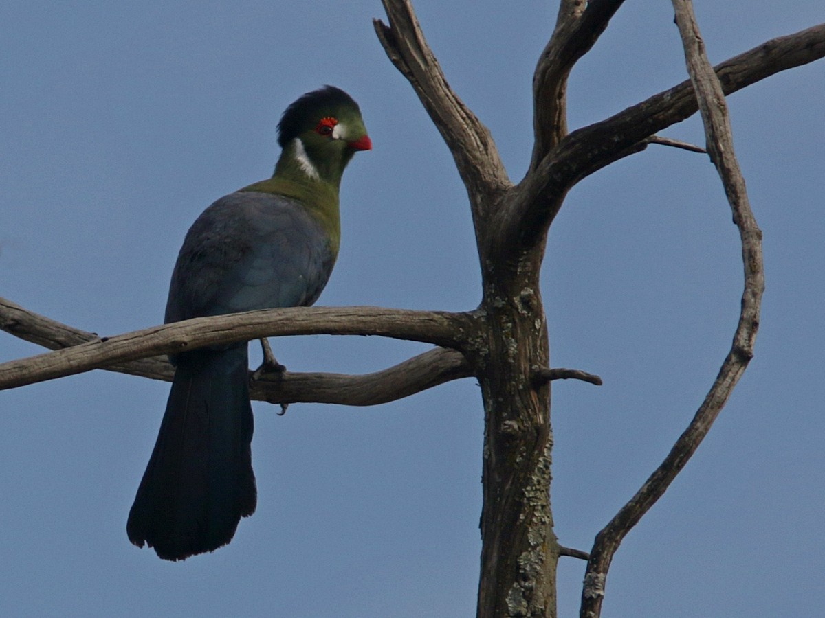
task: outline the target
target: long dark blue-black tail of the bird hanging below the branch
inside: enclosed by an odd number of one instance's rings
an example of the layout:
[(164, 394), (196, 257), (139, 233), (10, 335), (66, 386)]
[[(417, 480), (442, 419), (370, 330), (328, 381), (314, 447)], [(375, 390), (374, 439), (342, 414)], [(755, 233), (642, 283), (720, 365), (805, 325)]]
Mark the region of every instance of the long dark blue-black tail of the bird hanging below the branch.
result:
[(158, 441), (129, 513), (129, 540), (182, 560), (232, 540), (257, 503), (247, 344), (177, 357)]

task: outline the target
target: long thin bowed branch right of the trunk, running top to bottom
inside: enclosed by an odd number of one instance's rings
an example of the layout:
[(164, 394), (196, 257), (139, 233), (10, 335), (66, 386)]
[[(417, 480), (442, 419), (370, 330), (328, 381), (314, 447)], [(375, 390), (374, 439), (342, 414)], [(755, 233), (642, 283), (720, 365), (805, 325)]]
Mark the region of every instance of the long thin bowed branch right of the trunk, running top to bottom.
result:
[(601, 616), (604, 584), (615, 551), (627, 533), (662, 497), (676, 475), (686, 466), (745, 372), (753, 356), (753, 345), (759, 328), (761, 297), (765, 289), (761, 231), (748, 203), (745, 180), (733, 152), (733, 134), (722, 84), (705, 54), (705, 44), (695, 21), (691, 0), (672, 2), (685, 49), (688, 73), (691, 75), (702, 121), (705, 124), (710, 158), (719, 171), (733, 211), (733, 222), (736, 223), (742, 240), (742, 262), (745, 271), (742, 309), (731, 349), (691, 424), (676, 440), (662, 465), (596, 536), (587, 563), (585, 581), (598, 582), (601, 588), (596, 592), (592, 587), (583, 591), (580, 612), (582, 618)]

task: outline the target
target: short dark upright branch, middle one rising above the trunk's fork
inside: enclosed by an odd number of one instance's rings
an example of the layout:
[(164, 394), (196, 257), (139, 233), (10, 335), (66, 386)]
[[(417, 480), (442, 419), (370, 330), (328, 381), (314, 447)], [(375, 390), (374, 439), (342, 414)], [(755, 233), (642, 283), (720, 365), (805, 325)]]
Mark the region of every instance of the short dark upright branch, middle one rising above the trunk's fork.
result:
[(567, 82), (573, 65), (592, 49), (624, 0), (565, 0), (553, 36), (533, 75), (535, 143), (530, 170), (567, 135)]

